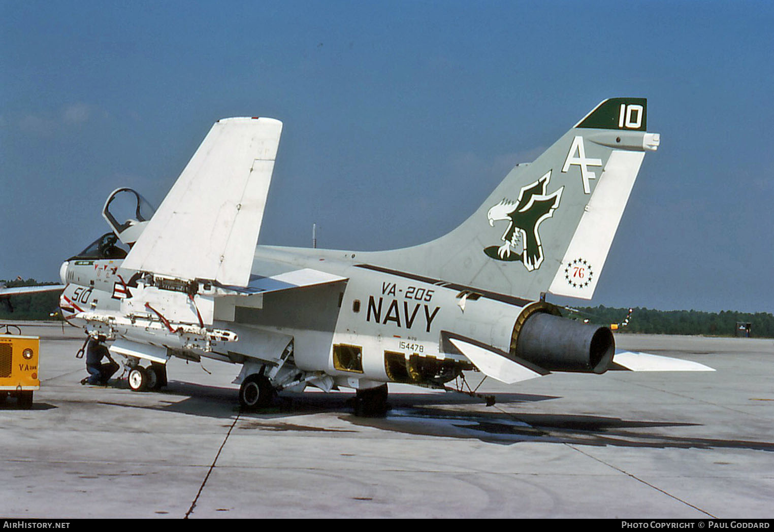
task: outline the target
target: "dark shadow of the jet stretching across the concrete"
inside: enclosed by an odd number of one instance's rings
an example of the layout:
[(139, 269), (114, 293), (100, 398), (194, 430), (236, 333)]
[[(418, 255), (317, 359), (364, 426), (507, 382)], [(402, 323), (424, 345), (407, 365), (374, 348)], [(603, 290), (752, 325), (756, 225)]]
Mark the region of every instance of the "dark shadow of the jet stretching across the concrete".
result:
[[(126, 387), (120, 384), (115, 387)], [(687, 421), (639, 421), (586, 414), (521, 414), (486, 407), (484, 402), (464, 394), (411, 394), (389, 396), (389, 411), (382, 418), (361, 418), (352, 411), (354, 394), (283, 393), (272, 405), (259, 411), (241, 412), (237, 390), (170, 381), (162, 392), (184, 397), (182, 401), (159, 406), (115, 404), (213, 418), (240, 416), (240, 428), (259, 431), (348, 431), (321, 426), (293, 424), (287, 418), (310, 414), (333, 414), (355, 427), (440, 438), (474, 438), (498, 445), (521, 442), (567, 445), (615, 446), (629, 448), (734, 448), (774, 451), (772, 442), (738, 439), (691, 438), (664, 434), (664, 430), (700, 426)], [(556, 399), (537, 394), (496, 394), (497, 404), (533, 403)], [(170, 397), (171, 398), (171, 397)], [(104, 402), (104, 401), (101, 401)], [(166, 401), (164, 401), (166, 402)], [(35, 407), (33, 407), (35, 408)]]

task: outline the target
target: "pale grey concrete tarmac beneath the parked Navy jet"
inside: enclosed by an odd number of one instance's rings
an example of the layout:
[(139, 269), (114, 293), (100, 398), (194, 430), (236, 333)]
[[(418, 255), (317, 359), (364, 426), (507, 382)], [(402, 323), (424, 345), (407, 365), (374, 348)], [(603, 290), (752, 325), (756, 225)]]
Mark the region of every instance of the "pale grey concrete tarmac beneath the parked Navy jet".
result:
[(0, 406), (0, 517), (774, 513), (771, 339), (618, 334), (618, 347), (717, 371), (486, 379), (491, 407), (390, 385), (386, 418), (356, 418), (351, 392), (241, 413), (240, 368), (215, 361), (170, 361), (161, 392), (81, 386), (79, 329), (22, 333), (41, 338), (41, 386), (31, 410)]

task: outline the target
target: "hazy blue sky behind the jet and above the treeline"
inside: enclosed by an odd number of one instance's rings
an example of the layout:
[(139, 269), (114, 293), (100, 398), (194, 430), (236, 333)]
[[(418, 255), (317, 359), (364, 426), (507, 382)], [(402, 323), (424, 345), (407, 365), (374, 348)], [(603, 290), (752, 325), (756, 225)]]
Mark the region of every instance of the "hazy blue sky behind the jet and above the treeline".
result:
[[(0, 278), (56, 280), (119, 186), (211, 124), (285, 124), (260, 242), (456, 227), (607, 97), (646, 156), (591, 304), (772, 312), (770, 2), (0, 2)], [(578, 302), (582, 304), (582, 302)]]

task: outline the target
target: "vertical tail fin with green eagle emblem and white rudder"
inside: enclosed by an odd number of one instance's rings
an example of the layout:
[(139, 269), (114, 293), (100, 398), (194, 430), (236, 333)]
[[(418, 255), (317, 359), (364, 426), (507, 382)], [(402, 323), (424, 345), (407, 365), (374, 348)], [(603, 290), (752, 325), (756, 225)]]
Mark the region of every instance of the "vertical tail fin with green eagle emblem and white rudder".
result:
[(645, 98), (611, 98), (529, 165), (516, 165), (460, 227), (427, 244), (360, 254), (387, 268), (524, 298), (591, 298), (646, 152)]

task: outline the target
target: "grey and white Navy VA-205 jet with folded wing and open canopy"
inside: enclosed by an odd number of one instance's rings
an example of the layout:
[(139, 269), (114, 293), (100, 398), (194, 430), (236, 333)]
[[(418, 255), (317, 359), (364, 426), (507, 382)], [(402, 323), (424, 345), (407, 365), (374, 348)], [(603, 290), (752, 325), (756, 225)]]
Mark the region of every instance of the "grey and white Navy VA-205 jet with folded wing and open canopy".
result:
[(374, 252), (256, 247), (283, 124), (226, 118), (158, 210), (132, 189), (108, 197), (111, 232), (62, 264), (60, 306), (124, 357), (133, 389), (162, 384), (173, 356), (207, 357), (241, 365), (245, 408), (279, 390), (348, 387), (356, 412), (379, 413), (386, 383), (444, 387), (465, 370), (509, 384), (553, 371), (706, 370), (614, 358), (608, 328), (546, 302), (594, 294), (642, 159), (659, 145), (646, 118), (644, 98), (603, 101), (449, 234)]

